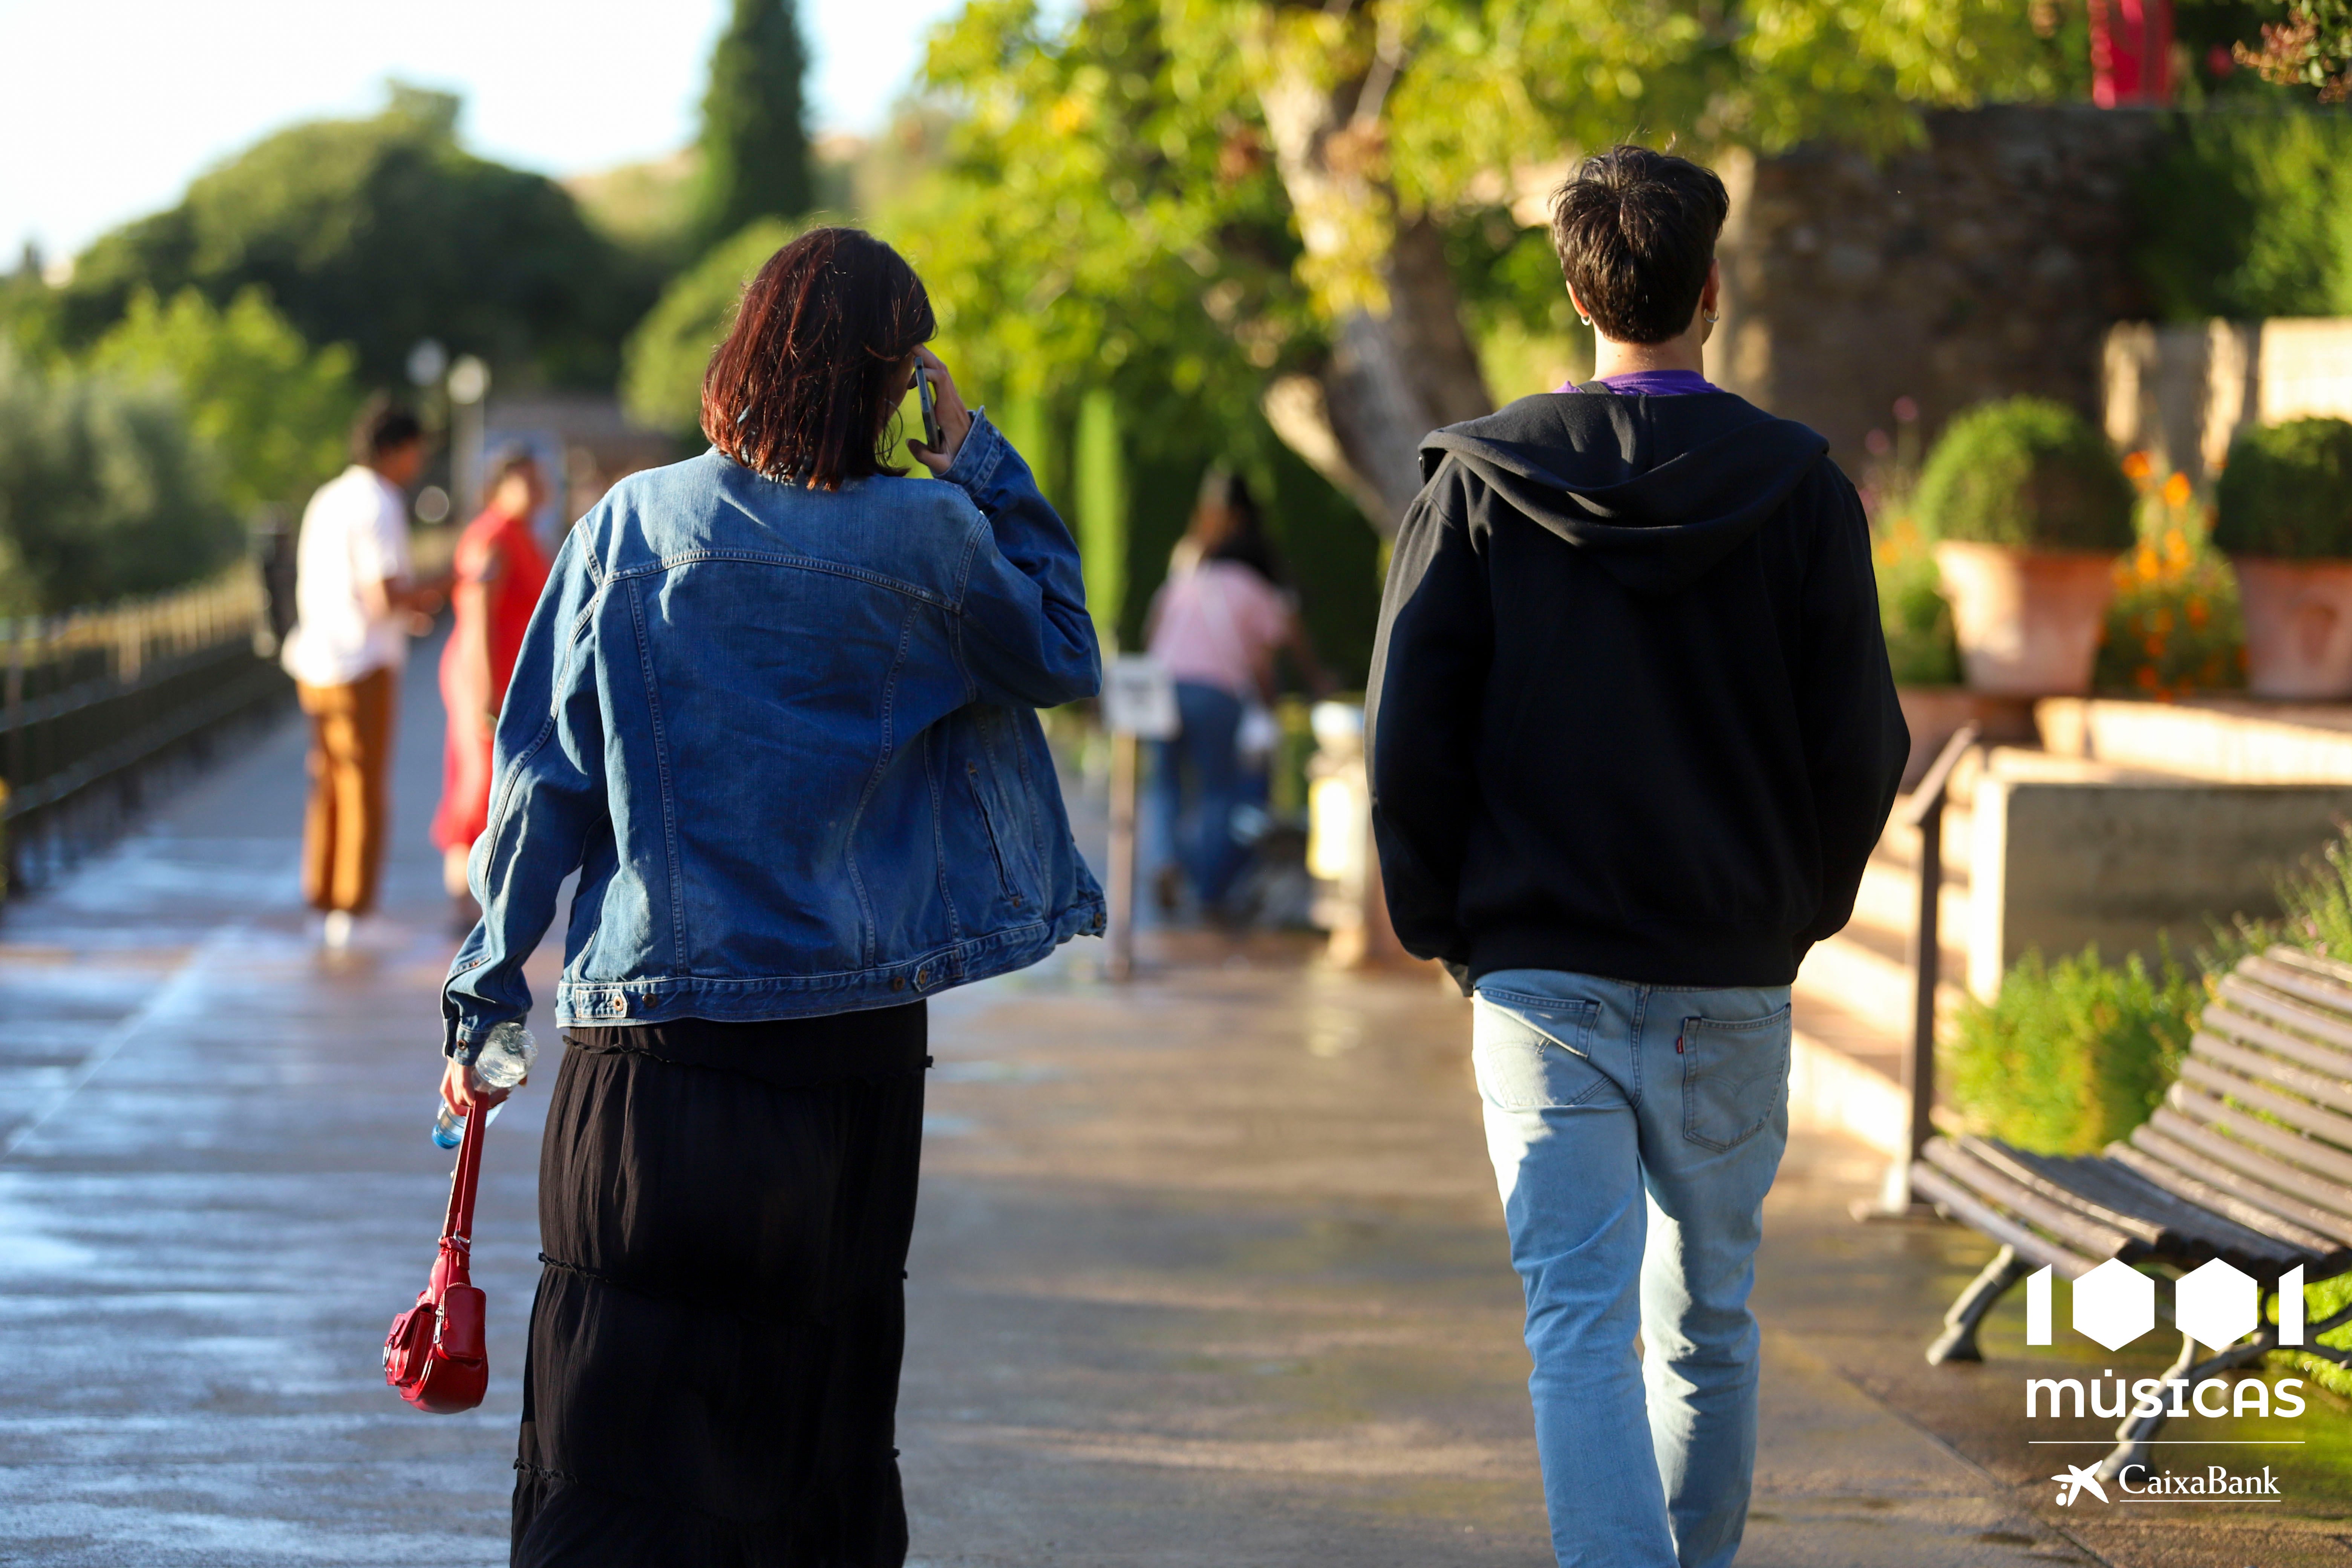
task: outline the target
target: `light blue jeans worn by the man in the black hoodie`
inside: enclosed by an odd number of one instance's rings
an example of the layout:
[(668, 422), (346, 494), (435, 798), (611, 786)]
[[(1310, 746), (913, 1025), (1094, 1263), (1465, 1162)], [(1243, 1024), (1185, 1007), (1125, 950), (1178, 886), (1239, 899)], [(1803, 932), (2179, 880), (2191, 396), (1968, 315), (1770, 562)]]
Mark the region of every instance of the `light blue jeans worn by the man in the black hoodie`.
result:
[(1748, 1291), (1788, 1147), (1788, 987), (1496, 971), (1472, 1056), (1526, 1286), (1552, 1552), (1724, 1568), (1755, 1476)]

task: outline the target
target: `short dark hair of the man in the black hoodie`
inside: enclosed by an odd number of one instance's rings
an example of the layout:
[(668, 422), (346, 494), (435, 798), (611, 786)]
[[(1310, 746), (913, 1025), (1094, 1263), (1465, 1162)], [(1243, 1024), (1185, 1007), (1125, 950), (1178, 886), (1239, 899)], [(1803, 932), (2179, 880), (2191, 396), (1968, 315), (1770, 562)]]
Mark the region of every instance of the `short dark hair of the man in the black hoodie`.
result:
[(1731, 195), (1712, 169), (1613, 146), (1552, 193), (1552, 249), (1604, 339), (1663, 343), (1698, 313), (1729, 214)]

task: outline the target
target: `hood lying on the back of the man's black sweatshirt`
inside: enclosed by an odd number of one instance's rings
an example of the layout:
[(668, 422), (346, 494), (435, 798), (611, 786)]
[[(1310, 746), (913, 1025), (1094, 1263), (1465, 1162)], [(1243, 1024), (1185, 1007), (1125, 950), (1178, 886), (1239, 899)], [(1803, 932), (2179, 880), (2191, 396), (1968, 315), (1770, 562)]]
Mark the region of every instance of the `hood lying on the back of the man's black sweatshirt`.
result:
[(1625, 588), (1677, 592), (1755, 534), (1828, 449), (1736, 393), (1541, 393), (1421, 437), (1421, 475), (1454, 458)]

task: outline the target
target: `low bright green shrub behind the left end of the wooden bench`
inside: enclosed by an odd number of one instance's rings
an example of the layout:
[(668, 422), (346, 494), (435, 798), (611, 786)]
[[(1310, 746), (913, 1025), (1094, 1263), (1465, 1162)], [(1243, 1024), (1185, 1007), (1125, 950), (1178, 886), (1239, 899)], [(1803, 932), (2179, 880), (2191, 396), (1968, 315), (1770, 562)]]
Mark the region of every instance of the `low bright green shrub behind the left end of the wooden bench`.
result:
[(2150, 973), (2098, 947), (2044, 964), (2027, 952), (1997, 1001), (1969, 1001), (1945, 1081), (1973, 1131), (2034, 1154), (2096, 1154), (2138, 1124), (2187, 1056), (2204, 985), (2164, 954)]

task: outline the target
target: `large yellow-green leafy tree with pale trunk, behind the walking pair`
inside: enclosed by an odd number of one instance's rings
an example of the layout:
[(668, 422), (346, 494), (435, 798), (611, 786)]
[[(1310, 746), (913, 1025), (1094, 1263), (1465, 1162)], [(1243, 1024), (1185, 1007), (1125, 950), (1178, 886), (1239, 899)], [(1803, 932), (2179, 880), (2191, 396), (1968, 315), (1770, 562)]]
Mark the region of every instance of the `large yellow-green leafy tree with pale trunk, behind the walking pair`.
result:
[(971, 0), (887, 221), (997, 383), (1258, 407), (1385, 529), (1421, 430), (1491, 407), (1472, 331), (1559, 331), (1522, 230), (1571, 148), (1893, 148), (2058, 96), (2067, 45), (2011, 0)]

